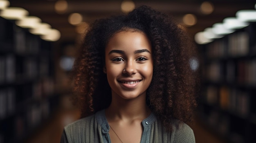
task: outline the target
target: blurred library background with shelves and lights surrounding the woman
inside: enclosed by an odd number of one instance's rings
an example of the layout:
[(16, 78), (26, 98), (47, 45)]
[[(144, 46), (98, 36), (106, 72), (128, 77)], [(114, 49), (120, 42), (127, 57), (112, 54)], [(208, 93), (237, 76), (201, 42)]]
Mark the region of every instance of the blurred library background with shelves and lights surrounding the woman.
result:
[(196, 142), (255, 143), (255, 0), (0, 0), (0, 143), (59, 143), (80, 115), (68, 79), (83, 32), (142, 4), (197, 44)]

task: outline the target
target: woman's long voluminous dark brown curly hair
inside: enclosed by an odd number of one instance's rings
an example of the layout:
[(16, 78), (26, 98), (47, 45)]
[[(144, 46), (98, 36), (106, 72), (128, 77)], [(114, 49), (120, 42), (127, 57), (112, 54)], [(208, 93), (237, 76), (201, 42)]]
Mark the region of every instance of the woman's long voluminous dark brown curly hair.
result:
[(105, 109), (111, 102), (106, 74), (105, 47), (120, 31), (144, 32), (153, 50), (153, 78), (146, 92), (146, 102), (166, 126), (171, 120), (191, 121), (195, 100), (195, 78), (189, 65), (194, 44), (187, 33), (169, 16), (147, 6), (128, 14), (96, 20), (88, 29), (74, 62), (73, 101), (86, 117)]

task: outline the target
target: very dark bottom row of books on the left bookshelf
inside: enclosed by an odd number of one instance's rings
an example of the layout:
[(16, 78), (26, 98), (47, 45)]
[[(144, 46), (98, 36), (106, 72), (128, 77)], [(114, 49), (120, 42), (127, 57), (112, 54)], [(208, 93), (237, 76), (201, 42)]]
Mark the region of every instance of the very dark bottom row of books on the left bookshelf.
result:
[(26, 110), (2, 120), (0, 122), (0, 142), (1, 140), (2, 143), (19, 142), (31, 134), (53, 112), (50, 102), (50, 99), (47, 99), (27, 104)]

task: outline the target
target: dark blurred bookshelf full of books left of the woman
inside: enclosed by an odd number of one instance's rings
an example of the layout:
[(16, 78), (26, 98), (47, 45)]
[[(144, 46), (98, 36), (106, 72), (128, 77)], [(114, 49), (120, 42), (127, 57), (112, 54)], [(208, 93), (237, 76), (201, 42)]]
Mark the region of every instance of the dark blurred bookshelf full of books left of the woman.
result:
[(23, 142), (58, 106), (52, 43), (0, 17), (0, 143)]

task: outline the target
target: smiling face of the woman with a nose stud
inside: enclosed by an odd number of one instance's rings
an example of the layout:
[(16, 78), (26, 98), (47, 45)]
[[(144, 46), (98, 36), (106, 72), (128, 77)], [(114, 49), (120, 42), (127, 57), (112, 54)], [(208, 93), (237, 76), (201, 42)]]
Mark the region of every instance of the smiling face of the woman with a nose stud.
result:
[(105, 49), (108, 83), (112, 97), (135, 99), (146, 96), (153, 75), (151, 44), (142, 32), (121, 31)]

